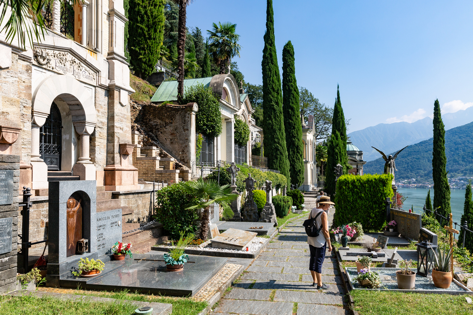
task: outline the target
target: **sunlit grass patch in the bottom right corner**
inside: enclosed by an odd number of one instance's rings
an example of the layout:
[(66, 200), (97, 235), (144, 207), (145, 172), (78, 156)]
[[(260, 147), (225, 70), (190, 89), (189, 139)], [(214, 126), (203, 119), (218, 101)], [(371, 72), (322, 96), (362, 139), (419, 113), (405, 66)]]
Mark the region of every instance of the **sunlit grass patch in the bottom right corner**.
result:
[(351, 290), (359, 315), (471, 315), (471, 295), (421, 294)]

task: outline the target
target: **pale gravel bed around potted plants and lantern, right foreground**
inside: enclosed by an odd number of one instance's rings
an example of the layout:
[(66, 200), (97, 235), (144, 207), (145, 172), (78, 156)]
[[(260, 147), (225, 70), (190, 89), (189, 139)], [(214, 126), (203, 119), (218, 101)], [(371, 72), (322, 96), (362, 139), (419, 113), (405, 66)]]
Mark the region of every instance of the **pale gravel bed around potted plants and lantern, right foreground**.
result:
[[(371, 268), (371, 270), (376, 271), (381, 278), (382, 286), (379, 289), (398, 289), (397, 281), (396, 281), (396, 268), (392, 270), (386, 269), (378, 269), (378, 268)], [(350, 278), (351, 285), (355, 289), (366, 289), (363, 288), (358, 284), (358, 281), (353, 281), (352, 279), (358, 275), (356, 268), (347, 268), (348, 275)], [(464, 291), (463, 288), (459, 287), (455, 282), (452, 281), (450, 287), (448, 289), (440, 289), (434, 286), (434, 283), (429, 283), (429, 279), (427, 277), (422, 277), (420, 275), (416, 275), (415, 277), (415, 289), (416, 290), (435, 290), (435, 291)]]

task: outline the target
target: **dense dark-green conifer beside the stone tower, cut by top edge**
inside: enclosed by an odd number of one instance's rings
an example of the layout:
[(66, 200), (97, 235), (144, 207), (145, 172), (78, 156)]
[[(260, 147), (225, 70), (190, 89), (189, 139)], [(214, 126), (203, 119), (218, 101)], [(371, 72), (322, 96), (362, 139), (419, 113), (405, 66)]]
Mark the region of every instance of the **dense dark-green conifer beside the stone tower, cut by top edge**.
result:
[(164, 35), (164, 0), (130, 2), (128, 50), (135, 75), (146, 79), (155, 71)]

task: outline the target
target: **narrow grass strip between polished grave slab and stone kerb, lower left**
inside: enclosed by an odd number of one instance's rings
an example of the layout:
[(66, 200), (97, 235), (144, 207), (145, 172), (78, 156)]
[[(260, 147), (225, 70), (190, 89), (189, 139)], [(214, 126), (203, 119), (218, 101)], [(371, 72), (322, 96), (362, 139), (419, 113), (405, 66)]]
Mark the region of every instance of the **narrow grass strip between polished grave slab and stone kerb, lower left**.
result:
[[(145, 302), (158, 302), (158, 303), (169, 303), (173, 305), (173, 312), (171, 315), (197, 315), (199, 314), (206, 306), (207, 302), (196, 302), (191, 298), (171, 298), (171, 297), (162, 297), (154, 295), (146, 295), (139, 293), (130, 293), (129, 290), (122, 290), (116, 292), (93, 292), (91, 291), (78, 291), (78, 295), (91, 295), (101, 298), (118, 298), (124, 300), (134, 300), (134, 301), (145, 301)], [(0, 308), (1, 309), (1, 308)], [(91, 313), (95, 314), (95, 313)], [(114, 314), (114, 313), (103, 313), (103, 314)], [(121, 314), (121, 313), (117, 313)], [(130, 313), (131, 314), (131, 313)], [(2, 315), (0, 313), (0, 315)], [(62, 315), (62, 314), (61, 314)]]

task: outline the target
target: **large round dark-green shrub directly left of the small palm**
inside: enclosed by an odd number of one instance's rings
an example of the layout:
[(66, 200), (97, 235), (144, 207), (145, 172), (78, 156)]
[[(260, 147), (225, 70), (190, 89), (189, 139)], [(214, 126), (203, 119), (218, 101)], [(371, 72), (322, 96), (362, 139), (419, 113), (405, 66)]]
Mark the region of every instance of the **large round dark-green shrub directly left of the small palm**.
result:
[(173, 238), (179, 238), (179, 232), (184, 234), (194, 233), (197, 226), (194, 220), (198, 220), (196, 210), (185, 210), (186, 205), (191, 203), (195, 197), (187, 194), (181, 185), (173, 184), (156, 191), (155, 218), (163, 224), (163, 228)]

